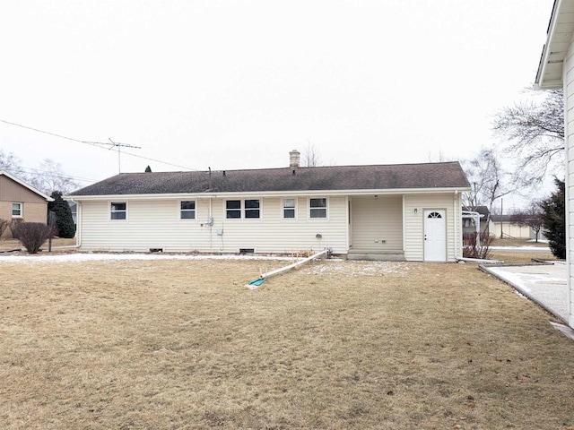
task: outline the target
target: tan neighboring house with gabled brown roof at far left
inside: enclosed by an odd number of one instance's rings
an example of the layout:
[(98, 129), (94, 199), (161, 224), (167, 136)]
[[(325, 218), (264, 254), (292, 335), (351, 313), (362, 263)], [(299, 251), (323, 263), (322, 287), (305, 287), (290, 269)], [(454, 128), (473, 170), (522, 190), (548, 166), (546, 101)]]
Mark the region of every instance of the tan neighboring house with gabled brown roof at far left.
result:
[[(48, 220), (48, 202), (54, 199), (39, 192), (16, 176), (0, 170), (0, 219), (12, 221), (23, 219), (28, 222)], [(12, 237), (7, 228), (2, 237)]]

